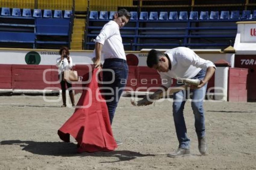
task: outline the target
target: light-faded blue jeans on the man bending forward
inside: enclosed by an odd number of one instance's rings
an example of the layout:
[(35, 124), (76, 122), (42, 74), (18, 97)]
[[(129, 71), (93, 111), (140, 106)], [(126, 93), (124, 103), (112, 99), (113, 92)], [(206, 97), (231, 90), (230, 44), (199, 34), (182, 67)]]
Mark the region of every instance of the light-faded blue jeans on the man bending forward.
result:
[[(206, 71), (201, 70), (199, 73), (192, 79), (202, 80), (205, 76)], [(177, 85), (179, 86), (179, 85)], [(198, 137), (204, 137), (204, 108), (203, 100), (206, 92), (207, 84), (205, 84), (200, 89), (191, 90), (192, 94), (192, 110), (195, 117), (195, 131)], [(184, 105), (186, 103), (186, 96), (189, 94), (187, 91), (179, 91), (173, 94), (173, 119), (176, 129), (176, 135), (179, 141), (179, 147), (184, 149), (189, 149), (190, 139), (187, 136), (186, 124), (183, 116)]]

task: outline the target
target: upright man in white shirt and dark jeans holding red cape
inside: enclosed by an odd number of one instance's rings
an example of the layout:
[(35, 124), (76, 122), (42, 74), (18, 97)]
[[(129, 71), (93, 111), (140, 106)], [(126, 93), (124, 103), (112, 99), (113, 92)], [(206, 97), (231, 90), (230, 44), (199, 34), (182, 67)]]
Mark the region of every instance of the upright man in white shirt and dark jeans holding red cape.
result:
[[(117, 103), (126, 86), (128, 77), (128, 65), (124, 53), (120, 30), (130, 20), (130, 13), (126, 9), (120, 9), (114, 14), (113, 20), (106, 23), (96, 37), (95, 43), (95, 68), (101, 65), (101, 52), (104, 54), (103, 64), (103, 87), (105, 89), (105, 99), (108, 106), (110, 123), (112, 124)], [(112, 72), (105, 69), (111, 69)], [(110, 82), (110, 84), (104, 82)], [(124, 83), (125, 82), (125, 83)], [(112, 94), (113, 95), (112, 95)], [(117, 145), (122, 144), (117, 141)]]

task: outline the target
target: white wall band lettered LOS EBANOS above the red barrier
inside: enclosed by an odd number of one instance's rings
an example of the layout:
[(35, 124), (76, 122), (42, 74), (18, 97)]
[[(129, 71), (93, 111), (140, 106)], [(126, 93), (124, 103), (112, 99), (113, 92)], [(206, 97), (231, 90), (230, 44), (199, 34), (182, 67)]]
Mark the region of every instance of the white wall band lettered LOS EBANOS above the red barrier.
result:
[[(234, 55), (232, 53), (223, 53), (220, 50), (194, 50), (201, 58), (216, 62), (225, 59), (234, 65)], [(60, 57), (58, 50), (43, 49), (6, 49), (0, 48), (0, 64), (39, 64), (55, 65), (56, 59)], [(70, 50), (73, 64), (92, 64), (94, 57), (92, 50)], [(138, 66), (147, 66), (147, 51), (126, 51), (126, 57), (137, 60)]]

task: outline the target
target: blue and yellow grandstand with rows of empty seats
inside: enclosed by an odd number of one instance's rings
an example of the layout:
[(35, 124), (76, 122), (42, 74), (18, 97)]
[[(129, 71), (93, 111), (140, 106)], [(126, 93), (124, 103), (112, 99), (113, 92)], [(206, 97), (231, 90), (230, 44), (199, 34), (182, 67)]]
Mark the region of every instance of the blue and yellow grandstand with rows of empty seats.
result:
[(0, 0), (0, 47), (93, 50), (115, 11), (131, 11), (125, 50), (224, 49), (238, 21), (256, 20), (256, 0)]

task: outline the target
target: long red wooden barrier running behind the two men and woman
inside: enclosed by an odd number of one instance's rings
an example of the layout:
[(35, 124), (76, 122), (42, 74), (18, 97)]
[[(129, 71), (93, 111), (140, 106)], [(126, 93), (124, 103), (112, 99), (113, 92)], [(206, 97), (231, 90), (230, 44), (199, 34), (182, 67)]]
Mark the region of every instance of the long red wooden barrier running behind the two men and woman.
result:
[[(92, 65), (75, 65), (78, 76), (83, 77), (93, 68)], [(60, 87), (58, 82), (58, 68), (55, 65), (1, 65), (0, 67), (0, 88), (1, 89), (37, 89), (56, 90)], [(46, 70), (49, 69), (49, 70)], [(45, 72), (44, 82), (43, 73)], [(173, 80), (173, 86), (175, 80)], [(156, 70), (148, 67), (129, 66), (129, 74), (126, 87), (133, 91), (146, 91), (149, 87), (160, 87), (161, 79)], [(73, 87), (82, 87), (81, 82), (73, 83)], [(214, 87), (214, 76), (208, 82), (208, 88)], [(130, 90), (130, 89), (127, 89)], [(155, 89), (156, 90), (156, 89)], [(151, 90), (151, 91), (155, 91)], [(82, 90), (75, 90), (76, 93)]]

